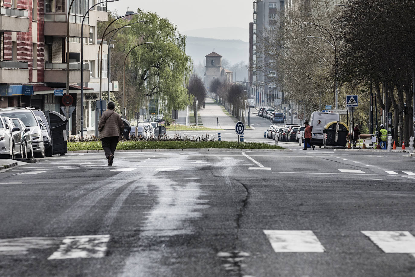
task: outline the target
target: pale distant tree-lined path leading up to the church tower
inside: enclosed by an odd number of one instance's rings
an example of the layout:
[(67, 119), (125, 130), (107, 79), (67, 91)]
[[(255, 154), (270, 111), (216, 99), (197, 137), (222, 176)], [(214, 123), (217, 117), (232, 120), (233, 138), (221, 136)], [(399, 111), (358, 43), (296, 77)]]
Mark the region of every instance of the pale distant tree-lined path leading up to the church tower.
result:
[(203, 126), (216, 129), (216, 121), (218, 120), (217, 127), (219, 129), (234, 129), (235, 123), (232, 118), (226, 115), (219, 105), (215, 105), (214, 103), (215, 101), (213, 99), (207, 99), (205, 108), (198, 111)]

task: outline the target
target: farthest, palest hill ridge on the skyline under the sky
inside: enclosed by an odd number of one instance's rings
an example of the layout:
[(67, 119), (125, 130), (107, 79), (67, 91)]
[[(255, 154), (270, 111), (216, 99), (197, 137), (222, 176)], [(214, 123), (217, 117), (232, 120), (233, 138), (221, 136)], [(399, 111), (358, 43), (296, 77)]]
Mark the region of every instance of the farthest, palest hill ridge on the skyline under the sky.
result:
[(189, 37), (207, 37), (212, 39), (239, 39), (243, 42), (249, 40), (248, 29), (241, 27), (203, 28), (181, 32)]

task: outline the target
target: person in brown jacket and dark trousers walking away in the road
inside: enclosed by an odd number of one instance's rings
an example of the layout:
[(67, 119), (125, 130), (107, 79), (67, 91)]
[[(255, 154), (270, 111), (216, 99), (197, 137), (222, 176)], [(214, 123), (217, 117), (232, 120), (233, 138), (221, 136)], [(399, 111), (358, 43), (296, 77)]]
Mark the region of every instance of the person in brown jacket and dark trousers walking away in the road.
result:
[(121, 116), (114, 109), (114, 102), (108, 102), (107, 110), (103, 112), (98, 124), (99, 137), (103, 145), (105, 157), (108, 160), (108, 165), (112, 165), (115, 148), (117, 148), (124, 130)]

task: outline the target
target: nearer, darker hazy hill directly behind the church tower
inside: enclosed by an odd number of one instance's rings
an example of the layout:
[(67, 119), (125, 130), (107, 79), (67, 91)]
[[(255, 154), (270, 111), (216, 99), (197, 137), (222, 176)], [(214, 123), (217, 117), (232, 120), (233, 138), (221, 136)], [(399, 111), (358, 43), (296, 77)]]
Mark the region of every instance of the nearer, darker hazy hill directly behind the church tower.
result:
[(205, 64), (205, 56), (213, 52), (222, 55), (222, 59), (231, 64), (245, 61), (248, 64), (248, 42), (239, 39), (210, 39), (205, 37), (187, 37), (186, 54), (190, 55), (195, 64)]

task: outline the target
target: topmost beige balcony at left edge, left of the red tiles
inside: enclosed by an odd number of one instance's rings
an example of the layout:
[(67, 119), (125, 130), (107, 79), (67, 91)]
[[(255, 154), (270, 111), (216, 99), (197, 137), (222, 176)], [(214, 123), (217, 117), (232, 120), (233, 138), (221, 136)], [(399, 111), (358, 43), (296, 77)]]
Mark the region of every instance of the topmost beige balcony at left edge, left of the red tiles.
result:
[(27, 10), (0, 7), (0, 32), (29, 32)]

